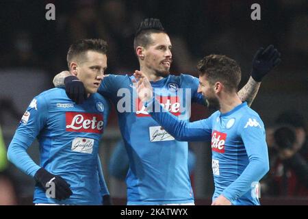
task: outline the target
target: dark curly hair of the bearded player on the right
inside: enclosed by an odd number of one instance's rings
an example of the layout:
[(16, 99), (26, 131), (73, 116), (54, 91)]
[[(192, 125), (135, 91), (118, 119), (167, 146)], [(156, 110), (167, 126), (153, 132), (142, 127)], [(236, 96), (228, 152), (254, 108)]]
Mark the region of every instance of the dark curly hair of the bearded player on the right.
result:
[(226, 55), (207, 55), (198, 62), (197, 68), (201, 77), (207, 76), (209, 83), (220, 81), (227, 90), (238, 90), (241, 81), (241, 68)]

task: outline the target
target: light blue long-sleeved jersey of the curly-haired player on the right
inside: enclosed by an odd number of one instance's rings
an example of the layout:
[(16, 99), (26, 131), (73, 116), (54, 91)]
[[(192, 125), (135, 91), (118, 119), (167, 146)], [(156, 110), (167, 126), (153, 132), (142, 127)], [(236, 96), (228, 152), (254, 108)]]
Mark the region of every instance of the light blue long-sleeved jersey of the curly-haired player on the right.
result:
[[(158, 105), (157, 101), (151, 104)], [(151, 116), (177, 140), (211, 142), (215, 192), (233, 205), (259, 205), (259, 180), (269, 170), (264, 123), (246, 103), (225, 114), (186, 123), (164, 112)]]

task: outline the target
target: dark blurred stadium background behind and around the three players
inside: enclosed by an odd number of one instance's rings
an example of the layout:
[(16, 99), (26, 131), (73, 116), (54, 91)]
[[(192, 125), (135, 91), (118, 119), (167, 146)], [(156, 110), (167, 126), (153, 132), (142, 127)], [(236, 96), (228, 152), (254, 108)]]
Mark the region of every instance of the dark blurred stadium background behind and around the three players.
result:
[[(45, 18), (45, 5), (55, 5), (55, 21)], [(251, 20), (251, 5), (261, 5), (261, 21)], [(8, 146), (31, 99), (53, 88), (56, 73), (67, 69), (66, 52), (80, 38), (103, 38), (109, 44), (107, 73), (138, 69), (133, 34), (143, 18), (160, 18), (173, 44), (172, 73), (197, 75), (203, 56), (219, 53), (233, 57), (242, 67), (241, 86), (250, 76), (251, 61), (259, 47), (274, 44), (282, 62), (262, 82), (252, 108), (266, 127), (285, 110), (295, 109), (308, 118), (308, 2), (273, 1), (95, 1), (50, 0), (0, 2), (0, 125)], [(193, 106), (192, 119), (209, 115)], [(108, 163), (120, 139), (116, 114), (101, 143), (101, 159), (115, 204), (125, 204), (125, 183), (110, 175)], [(196, 204), (210, 203), (213, 192), (211, 151), (203, 142), (190, 144), (196, 155), (192, 183)], [(37, 142), (29, 154), (38, 162)], [(305, 157), (307, 161), (307, 157)], [(31, 205), (34, 181), (12, 164), (5, 170), (16, 190), (16, 204)], [(269, 188), (271, 190), (271, 188)], [(308, 205), (307, 194), (270, 195), (261, 188), (263, 204)], [(5, 196), (1, 197), (0, 203)], [(4, 202), (2, 202), (4, 203)]]

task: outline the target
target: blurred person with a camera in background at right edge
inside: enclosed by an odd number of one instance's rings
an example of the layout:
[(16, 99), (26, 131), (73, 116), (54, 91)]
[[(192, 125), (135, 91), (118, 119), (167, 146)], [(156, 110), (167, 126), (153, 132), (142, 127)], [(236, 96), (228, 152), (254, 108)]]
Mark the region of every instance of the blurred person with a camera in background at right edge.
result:
[(268, 196), (308, 196), (308, 138), (302, 114), (287, 111), (268, 127), (270, 172), (261, 182)]

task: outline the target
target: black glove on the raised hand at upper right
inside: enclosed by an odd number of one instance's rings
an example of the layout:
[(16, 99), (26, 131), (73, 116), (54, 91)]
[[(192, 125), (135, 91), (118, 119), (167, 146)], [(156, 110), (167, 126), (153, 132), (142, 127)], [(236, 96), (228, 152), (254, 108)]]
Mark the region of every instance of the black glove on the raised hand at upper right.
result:
[(266, 49), (260, 48), (257, 53), (255, 53), (255, 57), (253, 57), (251, 77), (253, 77), (255, 81), (260, 82), (262, 78), (280, 62), (280, 53), (277, 49), (274, 49), (273, 45), (269, 45)]

